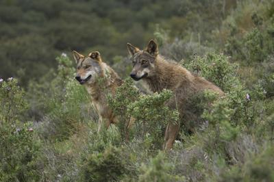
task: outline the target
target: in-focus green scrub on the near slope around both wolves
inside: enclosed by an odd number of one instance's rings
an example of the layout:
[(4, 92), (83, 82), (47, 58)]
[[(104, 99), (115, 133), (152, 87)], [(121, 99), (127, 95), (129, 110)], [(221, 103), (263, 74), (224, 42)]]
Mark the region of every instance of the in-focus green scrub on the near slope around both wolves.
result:
[[(256, 3), (238, 3), (208, 44), (155, 32), (160, 53), (225, 91), (193, 98), (205, 122), (193, 134), (182, 129), (169, 152), (161, 151), (164, 127), (179, 122), (165, 106), (169, 90), (140, 94), (126, 78), (108, 97), (120, 122), (98, 134), (66, 55), (26, 91), (1, 79), (0, 181), (274, 181), (274, 8)], [(123, 57), (113, 68), (126, 75), (121, 64), (130, 70)]]

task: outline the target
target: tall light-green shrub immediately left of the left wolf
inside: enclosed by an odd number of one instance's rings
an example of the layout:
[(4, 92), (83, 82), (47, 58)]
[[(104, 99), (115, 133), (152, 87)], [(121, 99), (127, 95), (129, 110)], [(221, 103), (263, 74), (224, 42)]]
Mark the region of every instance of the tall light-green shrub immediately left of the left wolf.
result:
[(58, 70), (52, 81), (42, 86), (40, 83), (32, 85), (32, 89), (40, 94), (38, 98), (29, 97), (42, 103), (44, 116), (40, 118), (40, 135), (64, 140), (77, 132), (79, 123), (92, 119), (92, 109), (86, 89), (73, 77), (76, 71), (72, 61), (66, 55), (56, 60)]

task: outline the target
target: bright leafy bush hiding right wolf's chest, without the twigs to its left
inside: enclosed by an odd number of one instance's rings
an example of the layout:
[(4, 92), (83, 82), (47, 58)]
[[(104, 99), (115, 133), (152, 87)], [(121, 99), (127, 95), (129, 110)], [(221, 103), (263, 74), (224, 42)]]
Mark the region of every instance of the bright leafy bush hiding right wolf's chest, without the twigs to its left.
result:
[(136, 135), (145, 139), (149, 148), (160, 148), (166, 125), (169, 122), (179, 122), (179, 112), (166, 105), (171, 96), (173, 93), (169, 90), (163, 90), (159, 94), (141, 95), (128, 107), (129, 113), (136, 119)]

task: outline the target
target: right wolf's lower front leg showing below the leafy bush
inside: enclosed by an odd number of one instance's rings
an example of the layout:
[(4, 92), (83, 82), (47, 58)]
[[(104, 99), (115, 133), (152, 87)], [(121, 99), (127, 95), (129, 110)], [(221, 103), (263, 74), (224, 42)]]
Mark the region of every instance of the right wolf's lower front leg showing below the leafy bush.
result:
[(171, 150), (178, 133), (179, 133), (179, 123), (178, 124), (169, 123), (169, 125), (167, 125), (166, 133), (164, 133), (164, 144), (163, 144), (164, 151)]

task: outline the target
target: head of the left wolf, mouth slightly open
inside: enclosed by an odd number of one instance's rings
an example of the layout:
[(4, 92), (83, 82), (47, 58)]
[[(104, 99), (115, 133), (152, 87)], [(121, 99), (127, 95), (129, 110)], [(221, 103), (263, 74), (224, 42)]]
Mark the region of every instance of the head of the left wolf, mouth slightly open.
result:
[(80, 84), (92, 84), (97, 81), (97, 78), (102, 74), (101, 70), (101, 55), (98, 51), (94, 51), (84, 56), (73, 51), (73, 57), (77, 64), (77, 75), (75, 79)]

